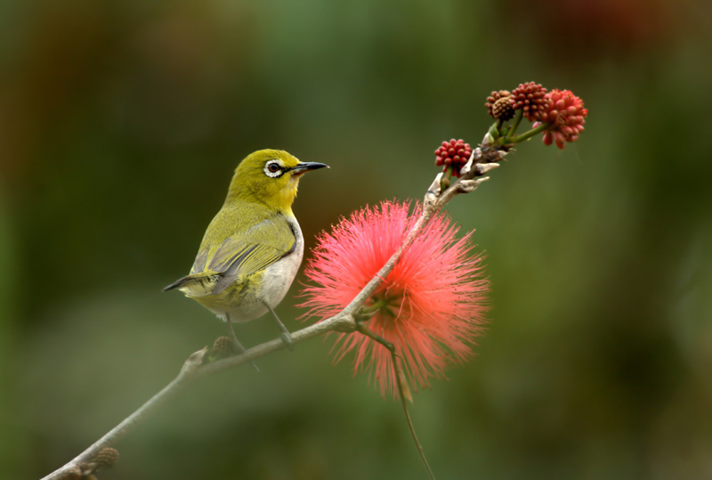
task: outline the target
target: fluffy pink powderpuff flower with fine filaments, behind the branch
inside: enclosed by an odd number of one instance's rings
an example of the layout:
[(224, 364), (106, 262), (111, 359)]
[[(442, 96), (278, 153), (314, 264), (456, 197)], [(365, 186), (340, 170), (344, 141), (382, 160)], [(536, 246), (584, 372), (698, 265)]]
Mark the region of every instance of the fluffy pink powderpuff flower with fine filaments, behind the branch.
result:
[[(408, 203), (385, 201), (343, 219), (333, 232), (317, 239), (305, 273), (316, 283), (303, 289), (305, 316), (340, 312), (395, 253), (417, 222), (421, 207), (409, 216)], [(473, 336), (481, 331), (489, 281), (482, 277), (482, 256), (472, 256), (471, 233), (457, 240), (457, 226), (434, 216), (410, 244), (365, 305), (375, 310), (367, 326), (391, 342), (409, 383), (429, 386), (444, 378), (454, 362), (471, 354)], [(354, 374), (375, 375), (382, 395), (397, 392), (390, 352), (359, 333), (339, 334), (335, 362), (353, 351)]]

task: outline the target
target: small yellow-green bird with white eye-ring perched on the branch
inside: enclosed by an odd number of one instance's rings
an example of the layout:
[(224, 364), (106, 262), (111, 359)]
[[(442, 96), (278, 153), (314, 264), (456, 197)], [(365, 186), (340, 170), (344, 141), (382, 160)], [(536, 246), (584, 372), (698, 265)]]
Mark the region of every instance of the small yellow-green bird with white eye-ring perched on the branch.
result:
[(250, 321), (268, 311), (280, 337), (292, 347), (287, 328), (274, 308), (287, 295), (302, 264), (302, 229), (292, 212), (299, 178), (328, 167), (301, 162), (286, 151), (255, 151), (235, 169), (228, 196), (207, 226), (190, 274), (164, 291), (181, 290), (186, 297), (226, 321), (239, 344), (233, 321)]

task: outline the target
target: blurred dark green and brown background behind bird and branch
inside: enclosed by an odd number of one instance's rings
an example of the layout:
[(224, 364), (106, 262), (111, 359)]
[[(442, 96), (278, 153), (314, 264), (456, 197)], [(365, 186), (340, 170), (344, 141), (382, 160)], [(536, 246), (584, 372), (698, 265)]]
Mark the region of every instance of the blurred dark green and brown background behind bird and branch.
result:
[[(438, 144), (478, 142), (490, 91), (536, 80), (585, 100), (586, 131), (450, 204), (492, 309), (476, 358), (416, 395), (425, 452), (439, 478), (712, 477), (710, 25), (672, 0), (3, 1), (0, 476), (61, 466), (223, 335), (161, 288), (248, 152), (332, 167), (296, 200), (312, 247), (421, 198)], [(100, 478), (425, 478), (332, 341), (202, 381)]]

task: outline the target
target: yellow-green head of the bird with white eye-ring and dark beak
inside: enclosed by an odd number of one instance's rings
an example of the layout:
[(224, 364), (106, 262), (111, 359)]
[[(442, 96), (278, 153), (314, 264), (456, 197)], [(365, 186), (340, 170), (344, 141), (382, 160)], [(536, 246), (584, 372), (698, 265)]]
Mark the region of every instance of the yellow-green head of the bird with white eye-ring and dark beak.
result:
[(232, 177), (226, 202), (253, 201), (280, 211), (289, 210), (299, 177), (323, 163), (301, 162), (286, 151), (260, 150), (247, 155)]

